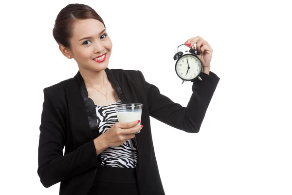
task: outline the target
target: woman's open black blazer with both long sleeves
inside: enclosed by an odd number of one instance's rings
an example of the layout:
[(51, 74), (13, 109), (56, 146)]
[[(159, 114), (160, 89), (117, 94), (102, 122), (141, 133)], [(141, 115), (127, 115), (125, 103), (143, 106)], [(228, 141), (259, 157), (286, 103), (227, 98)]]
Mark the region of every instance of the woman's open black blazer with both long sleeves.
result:
[[(143, 131), (133, 139), (137, 145), (136, 176), (140, 195), (164, 195), (155, 158), (150, 116), (188, 133), (198, 133), (219, 77), (202, 73), (192, 84), (187, 107), (160, 94), (135, 70), (106, 70), (123, 103), (143, 103)], [(86, 195), (100, 167), (92, 129), (98, 128), (95, 105), (81, 74), (44, 90), (37, 174), (44, 187), (60, 183), (60, 195)], [(65, 154), (63, 148), (65, 146)]]

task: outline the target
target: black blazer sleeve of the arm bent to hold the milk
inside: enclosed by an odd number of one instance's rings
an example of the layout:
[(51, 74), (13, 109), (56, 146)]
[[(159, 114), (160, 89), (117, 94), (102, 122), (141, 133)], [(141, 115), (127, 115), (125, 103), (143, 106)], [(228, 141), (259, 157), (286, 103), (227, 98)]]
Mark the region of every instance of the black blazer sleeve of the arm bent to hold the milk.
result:
[(46, 89), (39, 127), (37, 174), (43, 186), (48, 188), (98, 166), (99, 162), (93, 140), (63, 156), (67, 137), (64, 109)]

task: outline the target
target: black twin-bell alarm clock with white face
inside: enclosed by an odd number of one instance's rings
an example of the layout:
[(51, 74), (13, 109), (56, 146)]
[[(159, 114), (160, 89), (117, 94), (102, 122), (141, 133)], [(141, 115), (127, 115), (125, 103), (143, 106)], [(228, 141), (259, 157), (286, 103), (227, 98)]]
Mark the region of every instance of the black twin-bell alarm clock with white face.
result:
[[(191, 81), (194, 82), (196, 79), (201, 79), (200, 75), (203, 72), (203, 63), (198, 58), (197, 55), (200, 55), (200, 51), (196, 49), (196, 44), (194, 45), (194, 49), (190, 49), (186, 54), (183, 54), (183, 52), (179, 51), (175, 52), (173, 59), (176, 60), (175, 63), (175, 72), (179, 78), (181, 78), (184, 81)], [(182, 82), (182, 84), (183, 84)]]

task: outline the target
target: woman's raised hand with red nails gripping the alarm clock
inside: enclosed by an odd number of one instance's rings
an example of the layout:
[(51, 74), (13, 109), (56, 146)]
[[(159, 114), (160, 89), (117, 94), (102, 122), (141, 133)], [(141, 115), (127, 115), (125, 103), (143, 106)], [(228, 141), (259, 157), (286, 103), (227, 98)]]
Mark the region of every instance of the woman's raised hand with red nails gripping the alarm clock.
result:
[(193, 49), (195, 48), (194, 45), (196, 44), (197, 50), (201, 52), (201, 54), (198, 55), (198, 58), (203, 63), (204, 69), (210, 70), (213, 49), (209, 45), (209, 43), (205, 41), (204, 39), (202, 39), (201, 37), (197, 36), (197, 37), (188, 39), (185, 42), (185, 44), (189, 48), (193, 48)]

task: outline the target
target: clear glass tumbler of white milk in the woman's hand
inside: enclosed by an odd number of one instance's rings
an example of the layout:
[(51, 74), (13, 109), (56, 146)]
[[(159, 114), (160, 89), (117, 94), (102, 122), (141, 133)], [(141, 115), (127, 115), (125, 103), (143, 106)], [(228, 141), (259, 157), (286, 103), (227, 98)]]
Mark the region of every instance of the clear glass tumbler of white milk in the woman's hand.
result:
[[(114, 108), (119, 122), (132, 122), (134, 120), (141, 120), (142, 106), (143, 104), (141, 103), (128, 103), (116, 105)], [(138, 125), (141, 125), (141, 122)], [(140, 131), (135, 134), (138, 133)]]

